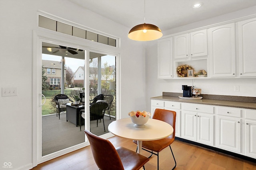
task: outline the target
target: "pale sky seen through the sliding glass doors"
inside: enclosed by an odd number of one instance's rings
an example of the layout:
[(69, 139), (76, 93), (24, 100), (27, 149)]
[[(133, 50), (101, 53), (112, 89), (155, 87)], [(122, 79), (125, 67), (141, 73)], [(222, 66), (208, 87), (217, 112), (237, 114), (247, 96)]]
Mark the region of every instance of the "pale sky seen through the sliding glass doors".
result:
[[(62, 57), (56, 55), (42, 54), (42, 60), (61, 61), (61, 58)], [(103, 66), (103, 64), (106, 62), (108, 62), (108, 65), (110, 66), (115, 65), (115, 60), (113, 56), (102, 56), (101, 65)], [(69, 66), (73, 72), (75, 72), (79, 66), (84, 66), (84, 60), (65, 57), (65, 64), (66, 66)]]

